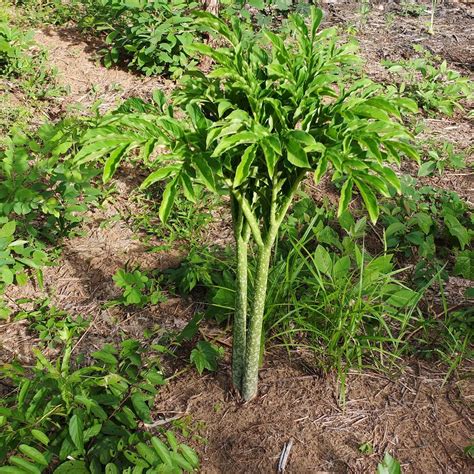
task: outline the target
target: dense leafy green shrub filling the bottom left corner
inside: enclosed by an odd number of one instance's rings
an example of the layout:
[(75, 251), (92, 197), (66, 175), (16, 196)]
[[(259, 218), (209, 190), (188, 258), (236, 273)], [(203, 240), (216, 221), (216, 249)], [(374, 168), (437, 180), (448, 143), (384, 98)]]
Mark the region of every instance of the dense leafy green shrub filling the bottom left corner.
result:
[[(0, 458), (14, 472), (192, 472), (196, 453), (140, 429), (152, 424), (150, 405), (165, 383), (159, 355), (135, 340), (120, 351), (110, 345), (92, 354), (95, 363), (72, 368), (72, 333), (56, 363), (36, 351), (32, 368), (3, 367), (16, 390), (0, 401)], [(146, 358), (145, 358), (146, 353)], [(0, 472), (13, 472), (3, 467)]]

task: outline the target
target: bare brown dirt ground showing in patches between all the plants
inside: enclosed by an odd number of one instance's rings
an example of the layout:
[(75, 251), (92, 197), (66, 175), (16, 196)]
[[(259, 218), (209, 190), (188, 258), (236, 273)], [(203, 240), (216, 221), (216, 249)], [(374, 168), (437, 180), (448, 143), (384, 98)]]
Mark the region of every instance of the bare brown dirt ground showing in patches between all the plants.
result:
[[(327, 22), (360, 23), (356, 3), (325, 2)], [(444, 2), (434, 37), (426, 33), (426, 17), (400, 20), (387, 29), (385, 14), (396, 8), (397, 2), (378, 3), (359, 25), (358, 38), (372, 75), (383, 74), (380, 59), (406, 57), (415, 41), (446, 57), (451, 66), (472, 71), (473, 23), (467, 6)], [(148, 96), (156, 87), (170, 87), (162, 79), (105, 69), (97, 59), (101, 45), (74, 29), (41, 30), (36, 40), (48, 48), (60, 81), (70, 88), (64, 110), (77, 105), (87, 108), (96, 99), (102, 99), (108, 108), (121, 98)], [(431, 133), (449, 137), (462, 148), (471, 143), (472, 127), (464, 119), (428, 121), (428, 126)], [(76, 354), (96, 350), (121, 334), (140, 338), (146, 327), (180, 329), (198, 304), (172, 298), (132, 313), (104, 308), (106, 301), (117, 296), (112, 275), (126, 262), (168, 268), (180, 260), (178, 250), (149, 253), (149, 244), (125, 221), (111, 219), (117, 213), (134, 212), (126, 204), (130, 183), (119, 176), (117, 185), (118, 195), (91, 213), (82, 235), (64, 242), (59, 264), (45, 271), (45, 290), (30, 285), (9, 295), (14, 299), (48, 294), (58, 307), (90, 316), (92, 324), (75, 348)], [(439, 178), (439, 185), (473, 200), (470, 174), (445, 175)], [(216, 236), (225, 230), (216, 229)], [(222, 335), (226, 348), (228, 338), (227, 333)], [(34, 344), (21, 322), (0, 326), (0, 360), (31, 360)], [(236, 400), (229, 387), (228, 362), (217, 374), (203, 377), (189, 370), (162, 390), (155, 415), (170, 411), (191, 415), (193, 426), (205, 440), (195, 446), (204, 473), (275, 472), (283, 445), (290, 439), (288, 473), (374, 472), (386, 451), (400, 460), (404, 472), (474, 472), (474, 464), (462, 452), (474, 433), (474, 384), (467, 372), (443, 384), (443, 367), (407, 360), (404, 369), (391, 376), (354, 373), (347, 380), (343, 405), (335, 377), (308, 373), (300, 359), (298, 353), (289, 360), (286, 353), (269, 351), (259, 396), (246, 405)], [(372, 454), (359, 451), (363, 443), (373, 446)]]

